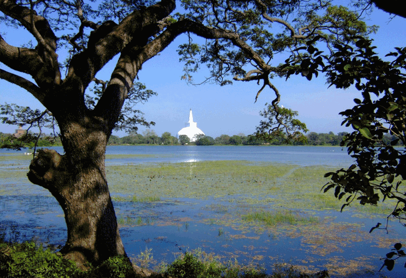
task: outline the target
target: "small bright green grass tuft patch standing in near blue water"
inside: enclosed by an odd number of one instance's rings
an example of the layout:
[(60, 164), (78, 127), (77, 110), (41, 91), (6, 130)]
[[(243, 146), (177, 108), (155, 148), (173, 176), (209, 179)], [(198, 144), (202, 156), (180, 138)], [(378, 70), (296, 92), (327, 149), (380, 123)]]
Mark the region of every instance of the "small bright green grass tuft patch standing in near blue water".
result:
[(292, 211), (255, 211), (246, 215), (242, 215), (242, 219), (247, 222), (263, 222), (269, 226), (280, 224), (289, 225), (307, 225), (319, 223), (319, 219), (313, 216), (304, 217), (298, 212)]

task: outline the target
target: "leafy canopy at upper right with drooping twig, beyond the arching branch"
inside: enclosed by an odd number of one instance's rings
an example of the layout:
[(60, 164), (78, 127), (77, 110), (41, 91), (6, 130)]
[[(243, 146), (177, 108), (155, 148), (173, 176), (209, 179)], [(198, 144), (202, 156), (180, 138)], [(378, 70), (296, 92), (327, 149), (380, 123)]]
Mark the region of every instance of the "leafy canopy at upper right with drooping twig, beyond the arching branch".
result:
[[(235, 33), (236, 38), (218, 38), (197, 44), (189, 37), (189, 42), (180, 46), (179, 55), (185, 63), (183, 78), (192, 84), (193, 73), (206, 64), (210, 71), (201, 83), (216, 83), (221, 86), (233, 81), (263, 82), (258, 95), (269, 88), (275, 92), (272, 101), (275, 120), (281, 124), (284, 115), (278, 113), (280, 93), (270, 82), (272, 78), (288, 77), (310, 64), (311, 55), (299, 51), (307, 49), (314, 53), (317, 42), (325, 43), (327, 49), (334, 44), (353, 44), (352, 35), (375, 32), (376, 26), (368, 27), (359, 16), (348, 8), (332, 6), (329, 2), (310, 2), (300, 5), (300, 1), (182, 1), (187, 10), (182, 15), (212, 28)], [(288, 22), (288, 14), (296, 17)], [(294, 23), (294, 25), (293, 25)], [(275, 26), (281, 26), (279, 31)], [(250, 46), (245, 45), (247, 42)], [(238, 46), (238, 48), (234, 48)], [(272, 65), (276, 55), (287, 55), (288, 64)], [(317, 65), (317, 64), (316, 64)], [(314, 68), (300, 70), (303, 76), (312, 79)], [(317, 75), (316, 75), (317, 76)], [(285, 126), (291, 127), (291, 126)], [(275, 126), (274, 135), (282, 132), (290, 135), (283, 124)], [(292, 131), (295, 133), (295, 131)], [(301, 137), (300, 139), (304, 139)]]

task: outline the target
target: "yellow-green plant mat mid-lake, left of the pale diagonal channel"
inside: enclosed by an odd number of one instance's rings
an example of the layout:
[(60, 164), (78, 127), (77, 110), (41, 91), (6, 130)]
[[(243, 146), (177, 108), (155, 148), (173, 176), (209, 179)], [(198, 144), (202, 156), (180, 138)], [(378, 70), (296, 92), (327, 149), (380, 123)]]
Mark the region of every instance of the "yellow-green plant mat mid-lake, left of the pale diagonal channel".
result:
[[(107, 167), (112, 192), (162, 198), (207, 198), (258, 192), (267, 194), (292, 165), (244, 161), (127, 165)], [(132, 192), (130, 191), (132, 190)]]

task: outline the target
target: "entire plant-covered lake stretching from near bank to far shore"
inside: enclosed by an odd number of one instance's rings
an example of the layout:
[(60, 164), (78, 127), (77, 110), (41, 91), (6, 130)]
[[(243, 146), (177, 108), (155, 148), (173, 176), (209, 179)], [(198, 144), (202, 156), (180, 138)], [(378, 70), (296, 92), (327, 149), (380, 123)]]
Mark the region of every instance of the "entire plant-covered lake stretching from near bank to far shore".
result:
[[(48, 191), (28, 182), (29, 158), (22, 154), (0, 152), (0, 233), (63, 245), (62, 210)], [(346, 149), (311, 146), (109, 146), (106, 158), (120, 234), (133, 260), (147, 250), (154, 267), (199, 248), (267, 272), (275, 263), (292, 263), (309, 271), (327, 268), (332, 277), (378, 277), (379, 259), (404, 238), (404, 228), (390, 222), (389, 234), (370, 234), (384, 214), (363, 208), (340, 213), (332, 193), (319, 194), (323, 173), (351, 164)], [(243, 220), (258, 211), (317, 222)], [(405, 274), (403, 263), (384, 273)]]

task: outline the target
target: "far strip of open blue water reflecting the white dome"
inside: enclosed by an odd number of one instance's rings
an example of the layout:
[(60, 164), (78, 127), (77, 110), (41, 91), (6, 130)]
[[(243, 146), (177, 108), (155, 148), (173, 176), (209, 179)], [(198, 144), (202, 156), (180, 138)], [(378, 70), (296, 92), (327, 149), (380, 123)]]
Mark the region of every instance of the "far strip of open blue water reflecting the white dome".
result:
[[(62, 147), (51, 147), (63, 153)], [(15, 153), (16, 151), (3, 151)], [(0, 153), (1, 154), (1, 153)], [(134, 158), (117, 158), (106, 163), (179, 163), (215, 160), (276, 162), (299, 166), (339, 166), (353, 164), (347, 148), (318, 146), (108, 146), (106, 154), (137, 154)]]

